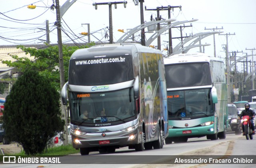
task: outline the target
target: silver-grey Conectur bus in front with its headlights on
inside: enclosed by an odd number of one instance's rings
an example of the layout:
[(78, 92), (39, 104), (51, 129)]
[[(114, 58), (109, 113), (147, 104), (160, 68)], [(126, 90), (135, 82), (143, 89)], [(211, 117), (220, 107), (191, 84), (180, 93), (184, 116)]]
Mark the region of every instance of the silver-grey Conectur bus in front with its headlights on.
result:
[(168, 136), (159, 50), (132, 43), (78, 49), (70, 57), (63, 104), (67, 97), (72, 144), (81, 155), (115, 152), (124, 146), (136, 151), (158, 149)]

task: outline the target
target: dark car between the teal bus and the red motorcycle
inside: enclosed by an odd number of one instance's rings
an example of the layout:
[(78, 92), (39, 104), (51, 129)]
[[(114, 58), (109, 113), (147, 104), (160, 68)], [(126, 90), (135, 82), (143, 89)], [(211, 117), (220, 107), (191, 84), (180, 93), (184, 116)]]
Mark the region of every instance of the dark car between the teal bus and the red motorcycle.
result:
[[(234, 104), (228, 104), (228, 125), (236, 135), (241, 134), (240, 119), (238, 117), (238, 109)], [(228, 129), (228, 130), (230, 130)]]

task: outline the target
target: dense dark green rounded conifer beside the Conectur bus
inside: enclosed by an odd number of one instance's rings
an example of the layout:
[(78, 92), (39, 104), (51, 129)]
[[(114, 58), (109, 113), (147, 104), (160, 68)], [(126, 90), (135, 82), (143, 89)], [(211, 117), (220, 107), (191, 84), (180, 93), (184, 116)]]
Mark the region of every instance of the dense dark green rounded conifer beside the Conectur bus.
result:
[(26, 154), (42, 153), (57, 132), (63, 131), (60, 94), (49, 79), (34, 69), (24, 71), (6, 97), (3, 127), (9, 140)]

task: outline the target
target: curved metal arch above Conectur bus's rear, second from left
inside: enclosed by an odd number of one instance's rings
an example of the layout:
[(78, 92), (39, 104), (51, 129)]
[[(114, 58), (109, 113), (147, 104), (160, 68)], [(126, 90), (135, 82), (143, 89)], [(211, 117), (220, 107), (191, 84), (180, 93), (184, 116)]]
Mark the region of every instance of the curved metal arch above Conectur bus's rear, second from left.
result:
[(187, 23), (187, 22), (193, 22), (196, 20), (185, 20), (185, 21), (178, 21), (178, 22), (174, 22), (172, 24), (168, 24), (167, 26), (164, 26), (163, 28), (161, 28), (160, 30), (156, 31), (156, 33), (154, 33), (145, 43), (146, 46), (149, 46), (158, 36), (160, 36), (163, 32), (165, 32), (166, 30), (169, 30), (170, 28), (177, 26), (179, 24), (183, 24), (183, 23)]

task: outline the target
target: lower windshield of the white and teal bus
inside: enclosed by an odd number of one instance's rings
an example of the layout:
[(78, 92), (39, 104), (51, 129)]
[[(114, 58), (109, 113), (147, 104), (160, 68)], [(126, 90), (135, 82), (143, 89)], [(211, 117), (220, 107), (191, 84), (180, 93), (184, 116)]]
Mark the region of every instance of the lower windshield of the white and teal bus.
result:
[(210, 89), (168, 91), (169, 119), (184, 117), (209, 117), (214, 114)]

